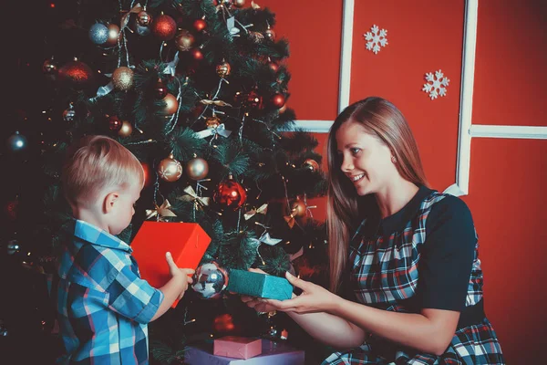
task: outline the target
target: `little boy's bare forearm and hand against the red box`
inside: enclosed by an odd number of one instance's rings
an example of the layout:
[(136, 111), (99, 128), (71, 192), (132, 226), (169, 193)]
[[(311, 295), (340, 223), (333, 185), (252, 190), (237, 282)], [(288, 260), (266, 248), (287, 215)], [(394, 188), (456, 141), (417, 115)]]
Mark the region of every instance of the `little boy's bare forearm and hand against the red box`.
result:
[(163, 287), (160, 287), (161, 293), (163, 293), (163, 300), (161, 301), (160, 308), (150, 319), (150, 321), (160, 318), (176, 299), (180, 299), (184, 296), (188, 285), (192, 283), (191, 275), (194, 270), (191, 268), (179, 268), (173, 261), (172, 256), (168, 252), (165, 254), (167, 265), (169, 265), (171, 278)]

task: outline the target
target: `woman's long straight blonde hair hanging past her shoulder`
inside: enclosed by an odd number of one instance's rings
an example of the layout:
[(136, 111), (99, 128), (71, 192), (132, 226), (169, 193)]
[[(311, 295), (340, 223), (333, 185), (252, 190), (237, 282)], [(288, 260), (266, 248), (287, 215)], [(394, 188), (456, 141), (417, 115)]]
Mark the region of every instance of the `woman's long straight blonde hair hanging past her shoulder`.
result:
[[(351, 120), (365, 127), (366, 131), (386, 143), (397, 158), (397, 170), (409, 182), (427, 185), (419, 158), (418, 145), (407, 120), (397, 107), (386, 99), (370, 97), (350, 105), (333, 123), (327, 140), (328, 193), (326, 221), (330, 257), (329, 284), (334, 293), (340, 289), (342, 273), (347, 269), (348, 247), (357, 224), (372, 209), (368, 200), (359, 197), (356, 189), (340, 170), (336, 131)], [(357, 203), (359, 203), (359, 206)]]

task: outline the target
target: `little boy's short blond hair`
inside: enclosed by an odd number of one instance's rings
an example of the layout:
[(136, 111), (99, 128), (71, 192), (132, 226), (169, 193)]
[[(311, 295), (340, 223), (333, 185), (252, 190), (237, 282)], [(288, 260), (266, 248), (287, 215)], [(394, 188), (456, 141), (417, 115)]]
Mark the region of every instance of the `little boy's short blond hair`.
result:
[(61, 183), (71, 205), (93, 203), (105, 188), (144, 182), (144, 171), (131, 151), (106, 136), (86, 136), (67, 151)]

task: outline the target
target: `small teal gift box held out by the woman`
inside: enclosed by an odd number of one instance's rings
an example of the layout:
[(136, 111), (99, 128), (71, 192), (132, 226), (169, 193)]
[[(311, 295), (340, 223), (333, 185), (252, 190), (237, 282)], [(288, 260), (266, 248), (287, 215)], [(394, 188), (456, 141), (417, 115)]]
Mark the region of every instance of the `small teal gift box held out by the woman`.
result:
[(293, 286), (284, 277), (236, 269), (230, 271), (229, 277), (226, 290), (233, 293), (278, 300), (293, 297)]

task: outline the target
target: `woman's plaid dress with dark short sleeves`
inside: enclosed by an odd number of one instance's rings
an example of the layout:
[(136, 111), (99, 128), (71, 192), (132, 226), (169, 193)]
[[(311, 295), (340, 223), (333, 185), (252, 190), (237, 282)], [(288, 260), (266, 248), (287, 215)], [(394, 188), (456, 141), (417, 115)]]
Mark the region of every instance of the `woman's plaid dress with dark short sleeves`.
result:
[(456, 310), (458, 328), (441, 356), (369, 335), (324, 364), (504, 364), (484, 315), (478, 247), (467, 205), (425, 186), (397, 214), (365, 220), (350, 245), (348, 298), (397, 312)]

